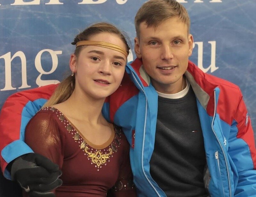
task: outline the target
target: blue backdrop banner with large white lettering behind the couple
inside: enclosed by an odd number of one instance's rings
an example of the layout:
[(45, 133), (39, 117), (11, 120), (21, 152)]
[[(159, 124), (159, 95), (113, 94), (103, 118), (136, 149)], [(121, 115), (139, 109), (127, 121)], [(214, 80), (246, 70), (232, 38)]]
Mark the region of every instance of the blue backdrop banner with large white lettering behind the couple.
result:
[[(177, 0), (191, 18), (190, 58), (204, 72), (241, 88), (256, 131), (256, 1)], [(107, 21), (135, 37), (145, 0), (0, 0), (0, 107), (17, 91), (58, 83), (74, 51), (70, 43), (91, 23)], [(135, 59), (135, 53), (129, 60)]]

